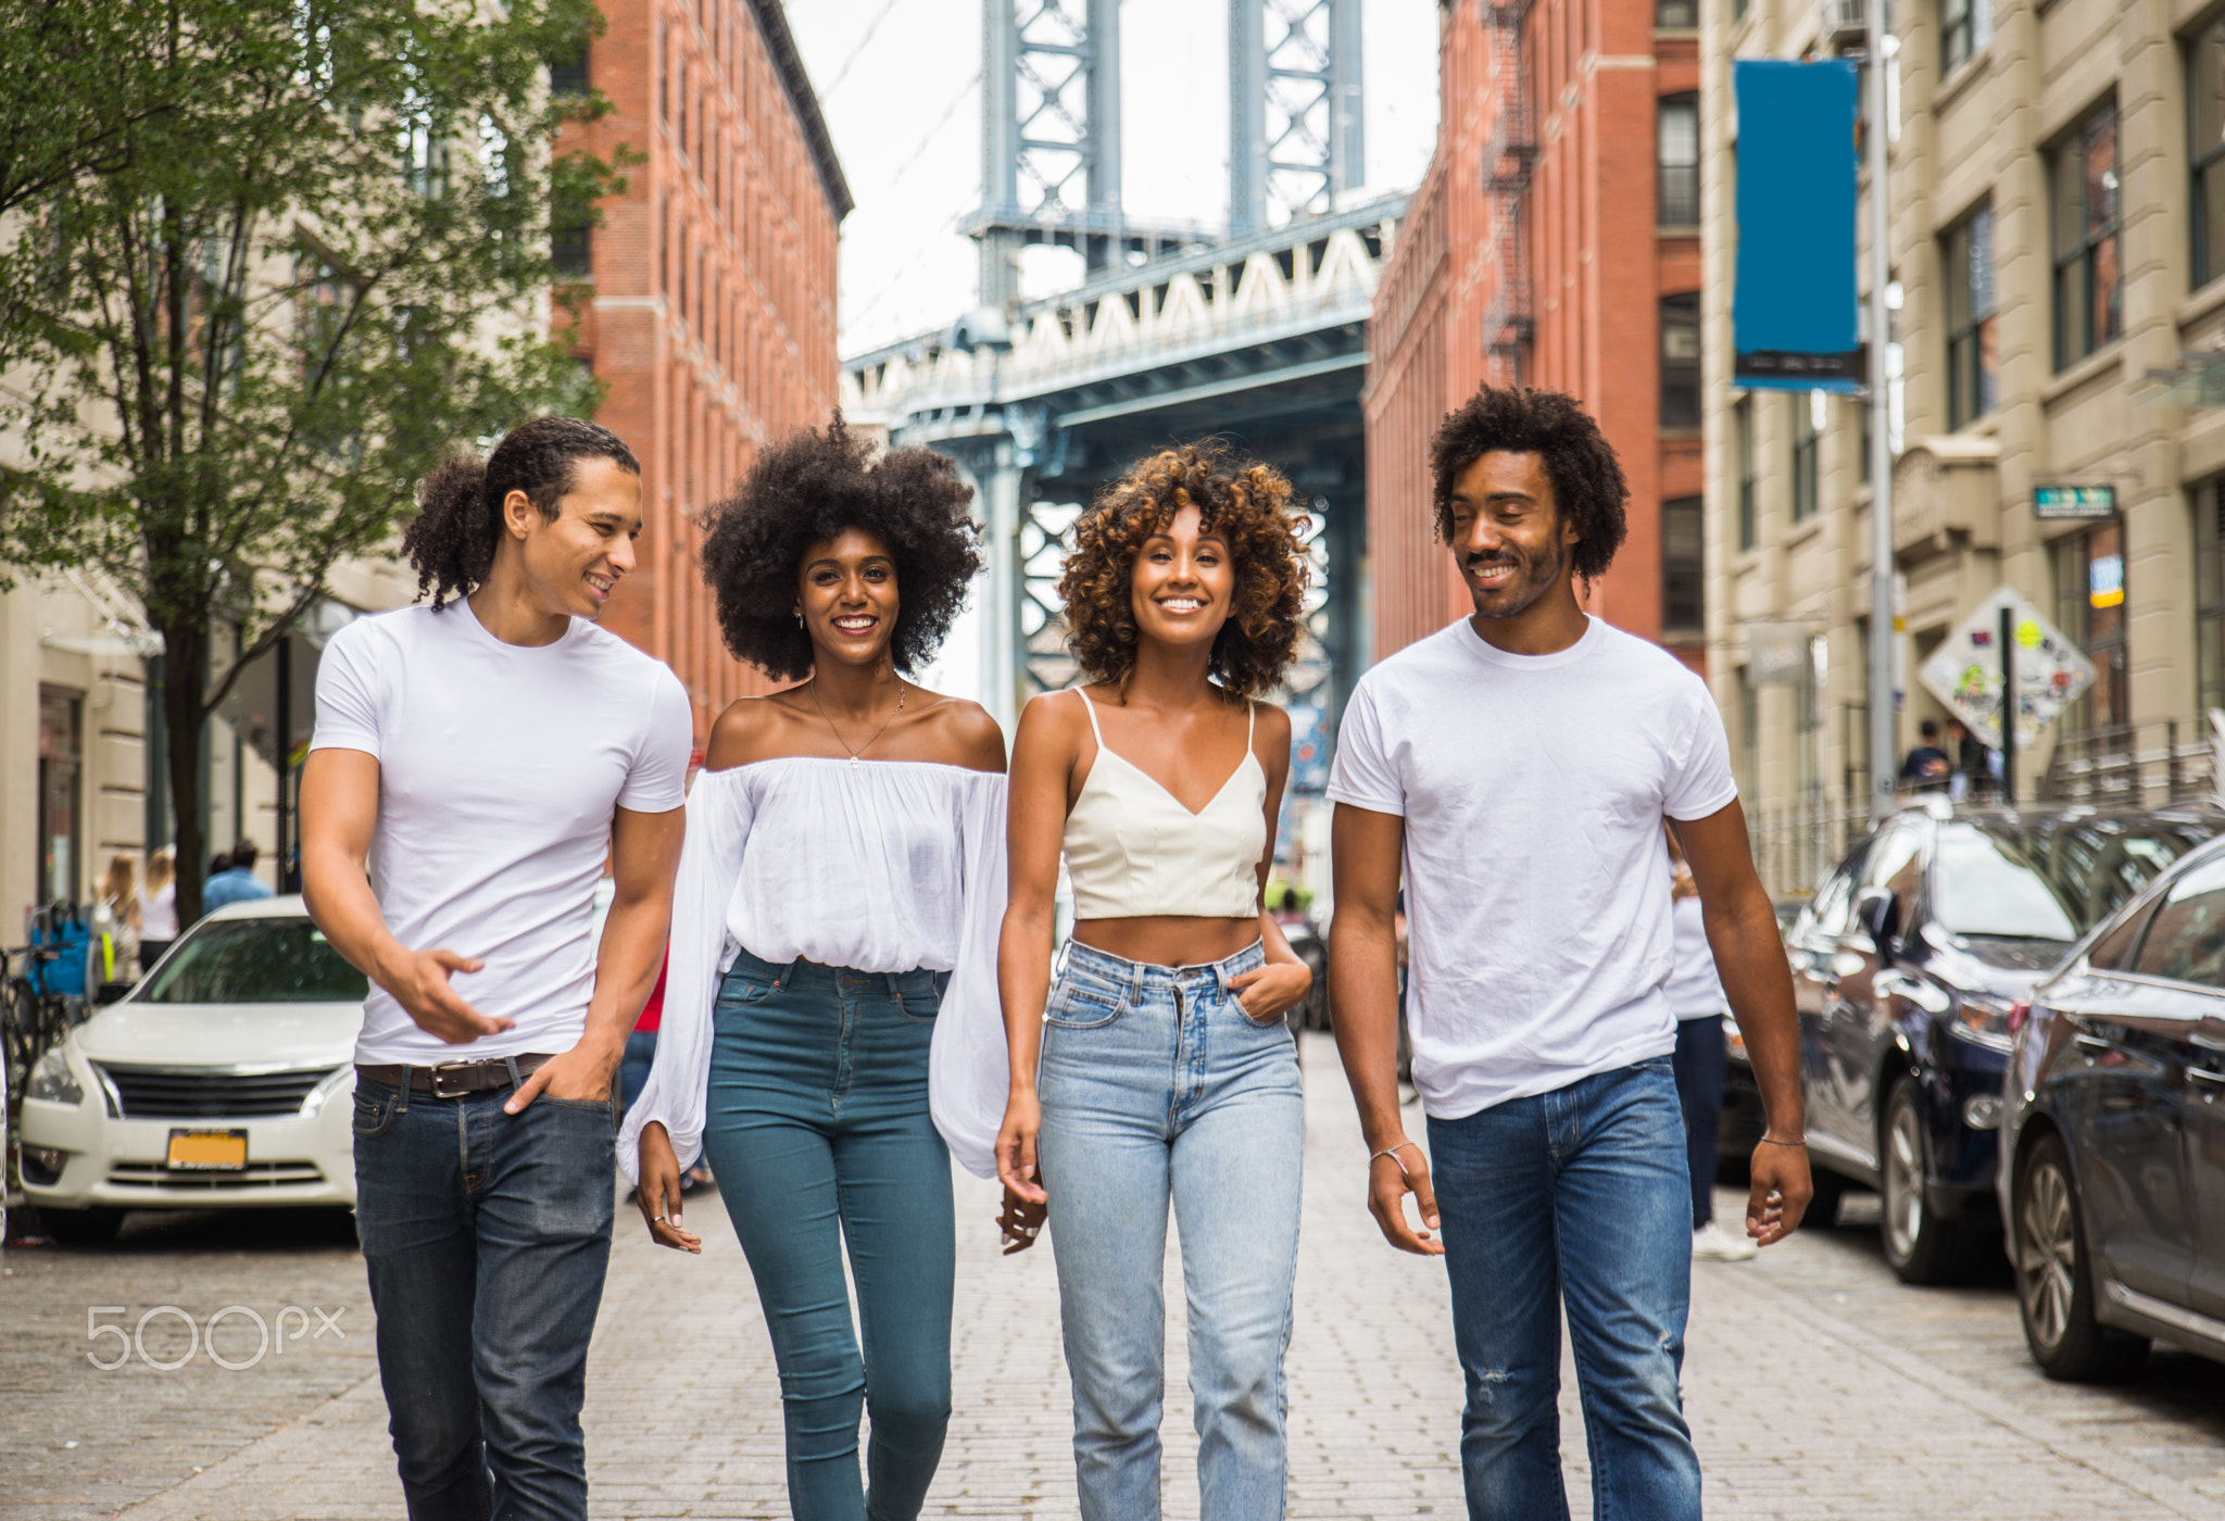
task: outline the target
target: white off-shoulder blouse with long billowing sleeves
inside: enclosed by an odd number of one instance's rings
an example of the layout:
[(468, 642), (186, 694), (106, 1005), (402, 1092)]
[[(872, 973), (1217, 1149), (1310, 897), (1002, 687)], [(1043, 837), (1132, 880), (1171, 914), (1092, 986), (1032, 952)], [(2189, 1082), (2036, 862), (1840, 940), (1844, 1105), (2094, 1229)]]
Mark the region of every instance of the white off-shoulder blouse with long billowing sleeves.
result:
[(685, 1165), (703, 1147), (712, 1005), (734, 952), (859, 972), (948, 972), (928, 1107), (950, 1154), (997, 1176), (1008, 1065), (997, 1001), (1003, 776), (926, 760), (790, 756), (703, 772), (672, 892), (656, 1065), (625, 1112), (619, 1165), (661, 1121)]

